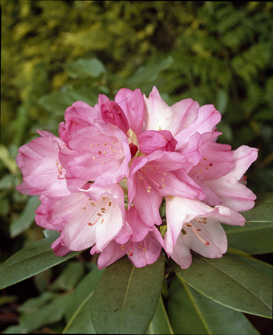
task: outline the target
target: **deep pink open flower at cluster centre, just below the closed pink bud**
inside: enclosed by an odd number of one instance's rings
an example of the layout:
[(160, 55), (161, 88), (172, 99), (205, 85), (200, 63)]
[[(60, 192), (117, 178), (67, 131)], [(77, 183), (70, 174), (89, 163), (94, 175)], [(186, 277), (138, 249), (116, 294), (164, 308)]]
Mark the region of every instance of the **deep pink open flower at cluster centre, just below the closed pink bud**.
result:
[[(127, 181), (129, 204), (134, 203), (147, 225), (161, 224), (158, 209), (166, 195), (204, 198), (198, 185), (184, 172), (187, 166), (183, 155), (161, 150), (132, 160)], [(177, 176), (172, 173), (175, 170), (179, 170)]]

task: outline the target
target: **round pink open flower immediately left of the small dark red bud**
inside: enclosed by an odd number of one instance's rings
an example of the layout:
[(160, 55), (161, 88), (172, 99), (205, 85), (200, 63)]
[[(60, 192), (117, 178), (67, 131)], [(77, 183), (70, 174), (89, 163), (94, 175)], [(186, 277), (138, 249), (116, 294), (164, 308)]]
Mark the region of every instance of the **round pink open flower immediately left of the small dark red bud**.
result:
[(97, 119), (94, 126), (72, 132), (67, 146), (73, 151), (64, 149), (59, 155), (69, 170), (67, 179), (76, 177), (95, 181), (95, 185), (111, 185), (129, 175), (128, 139), (116, 125)]

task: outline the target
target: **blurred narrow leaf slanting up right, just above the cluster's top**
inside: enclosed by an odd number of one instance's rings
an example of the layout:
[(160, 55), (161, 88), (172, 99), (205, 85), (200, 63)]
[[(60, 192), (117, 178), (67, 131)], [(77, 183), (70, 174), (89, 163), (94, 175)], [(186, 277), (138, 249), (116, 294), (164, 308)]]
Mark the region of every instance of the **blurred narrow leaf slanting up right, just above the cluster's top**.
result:
[(141, 66), (134, 72), (134, 74), (126, 80), (126, 86), (139, 86), (143, 83), (151, 83), (154, 82), (158, 75), (168, 69), (170, 65), (173, 63), (173, 58), (168, 56), (166, 59), (162, 60), (158, 64), (151, 64)]

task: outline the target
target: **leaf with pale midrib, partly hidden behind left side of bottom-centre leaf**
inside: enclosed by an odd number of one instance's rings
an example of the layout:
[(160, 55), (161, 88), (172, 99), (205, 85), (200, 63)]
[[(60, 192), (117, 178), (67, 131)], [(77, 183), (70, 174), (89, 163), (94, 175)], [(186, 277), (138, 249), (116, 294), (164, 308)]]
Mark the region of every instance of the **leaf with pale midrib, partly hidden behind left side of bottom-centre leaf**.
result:
[(63, 334), (96, 334), (90, 305), (96, 284), (104, 270), (94, 267), (77, 285), (65, 310), (66, 327)]

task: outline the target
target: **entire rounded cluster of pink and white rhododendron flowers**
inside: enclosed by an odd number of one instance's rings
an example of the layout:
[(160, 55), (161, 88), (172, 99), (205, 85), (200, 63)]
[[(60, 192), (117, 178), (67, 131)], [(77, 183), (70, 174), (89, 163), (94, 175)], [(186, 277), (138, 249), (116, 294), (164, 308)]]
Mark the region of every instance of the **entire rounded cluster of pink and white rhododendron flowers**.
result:
[(169, 107), (156, 87), (149, 97), (122, 88), (114, 101), (100, 94), (94, 107), (75, 102), (64, 119), (59, 137), (38, 130), (16, 157), (17, 190), (40, 196), (37, 224), (61, 232), (56, 255), (92, 247), (100, 269), (124, 255), (137, 267), (152, 264), (162, 247), (182, 269), (191, 249), (222, 257), (221, 223), (244, 225), (238, 212), (254, 206), (244, 173), (258, 149), (216, 143), (213, 105), (184, 99)]

